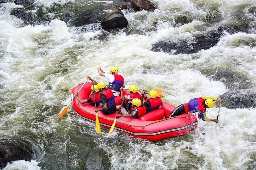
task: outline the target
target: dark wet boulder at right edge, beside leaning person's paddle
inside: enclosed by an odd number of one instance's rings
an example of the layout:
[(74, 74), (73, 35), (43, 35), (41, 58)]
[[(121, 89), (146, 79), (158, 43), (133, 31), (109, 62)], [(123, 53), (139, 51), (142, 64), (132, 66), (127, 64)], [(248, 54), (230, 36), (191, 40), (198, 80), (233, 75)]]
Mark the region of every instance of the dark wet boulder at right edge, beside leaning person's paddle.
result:
[(224, 93), (222, 106), (228, 109), (256, 107), (256, 89), (234, 90)]

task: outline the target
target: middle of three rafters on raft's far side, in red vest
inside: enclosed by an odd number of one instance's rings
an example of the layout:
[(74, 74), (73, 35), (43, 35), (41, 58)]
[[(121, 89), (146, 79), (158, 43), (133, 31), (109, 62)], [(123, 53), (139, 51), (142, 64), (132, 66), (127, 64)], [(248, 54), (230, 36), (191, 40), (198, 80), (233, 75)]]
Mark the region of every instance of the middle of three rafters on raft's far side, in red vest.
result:
[(141, 99), (142, 95), (138, 93), (138, 87), (136, 85), (130, 85), (129, 88), (130, 94), (127, 94), (123, 96), (123, 87), (120, 88), (121, 91), (121, 98), (124, 98), (125, 100), (125, 107), (127, 110), (131, 110), (132, 108), (132, 103), (131, 101), (135, 98)]

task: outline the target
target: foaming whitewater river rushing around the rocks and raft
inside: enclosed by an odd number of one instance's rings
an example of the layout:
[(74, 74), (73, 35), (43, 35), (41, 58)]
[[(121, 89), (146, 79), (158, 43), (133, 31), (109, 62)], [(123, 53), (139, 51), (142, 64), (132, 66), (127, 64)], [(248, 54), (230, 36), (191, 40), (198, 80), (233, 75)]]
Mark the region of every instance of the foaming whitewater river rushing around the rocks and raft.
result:
[[(53, 2), (66, 1), (36, 1), (45, 6)], [(10, 15), (11, 8), (21, 5), (0, 4), (0, 139), (25, 141), (34, 153), (32, 161), (14, 161), (4, 169), (256, 169), (255, 108), (222, 107), (217, 128), (214, 122), (199, 120), (192, 133), (158, 142), (117, 131), (108, 135), (106, 128), (97, 134), (95, 124), (76, 117), (71, 107), (62, 119), (57, 118), (70, 102), (71, 89), (86, 76), (106, 80), (98, 75), (98, 66), (107, 72), (118, 66), (126, 87), (163, 89), (163, 100), (174, 106), (229, 91), (223, 82), (209, 78), (212, 73), (207, 75), (207, 70), (217, 67), (245, 74), (255, 88), (256, 14), (248, 12), (256, 6), (255, 0), (152, 2), (154, 12), (123, 10), (127, 29), (110, 33), (107, 39), (99, 38), (102, 29), (77, 33), (58, 19), (24, 26)], [(206, 24), (210, 9), (219, 12), (219, 22)], [(250, 18), (247, 33), (226, 32), (214, 47), (194, 54), (150, 50), (158, 41), (190, 39), (232, 22), (238, 9)], [(171, 19), (181, 13), (194, 19), (175, 26)], [(139, 31), (127, 34), (132, 28)], [(207, 109), (207, 116), (215, 119), (218, 110), (218, 104)]]

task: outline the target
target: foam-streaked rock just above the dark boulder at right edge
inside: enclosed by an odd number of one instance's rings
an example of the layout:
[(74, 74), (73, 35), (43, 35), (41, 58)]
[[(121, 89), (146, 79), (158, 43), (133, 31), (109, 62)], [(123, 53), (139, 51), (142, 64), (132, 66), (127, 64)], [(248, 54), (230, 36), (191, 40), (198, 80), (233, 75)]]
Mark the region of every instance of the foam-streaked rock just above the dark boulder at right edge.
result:
[(251, 82), (246, 75), (225, 68), (218, 69), (213, 76), (210, 76), (210, 79), (222, 82), (231, 90), (251, 88)]

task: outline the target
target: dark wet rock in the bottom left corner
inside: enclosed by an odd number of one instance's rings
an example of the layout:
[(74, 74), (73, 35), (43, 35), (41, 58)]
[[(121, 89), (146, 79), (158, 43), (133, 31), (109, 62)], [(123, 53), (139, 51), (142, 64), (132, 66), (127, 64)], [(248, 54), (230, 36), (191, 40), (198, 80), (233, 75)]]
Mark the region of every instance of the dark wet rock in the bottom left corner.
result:
[(29, 145), (26, 141), (1, 140), (0, 168), (4, 168), (8, 162), (35, 159)]

